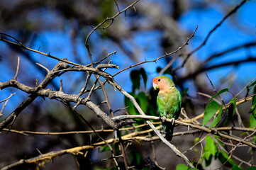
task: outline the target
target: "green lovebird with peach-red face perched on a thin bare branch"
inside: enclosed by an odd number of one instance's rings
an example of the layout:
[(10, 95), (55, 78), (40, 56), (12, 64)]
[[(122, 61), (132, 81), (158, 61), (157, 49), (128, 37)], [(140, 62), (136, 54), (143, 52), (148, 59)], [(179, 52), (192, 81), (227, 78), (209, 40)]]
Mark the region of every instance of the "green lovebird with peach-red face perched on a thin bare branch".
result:
[[(157, 109), (162, 120), (162, 127), (165, 131), (165, 137), (171, 141), (174, 130), (174, 119), (179, 118), (182, 106), (182, 95), (175, 87), (172, 79), (166, 76), (159, 76), (153, 79), (153, 88), (158, 90)], [(172, 123), (165, 121), (166, 118), (172, 119)]]

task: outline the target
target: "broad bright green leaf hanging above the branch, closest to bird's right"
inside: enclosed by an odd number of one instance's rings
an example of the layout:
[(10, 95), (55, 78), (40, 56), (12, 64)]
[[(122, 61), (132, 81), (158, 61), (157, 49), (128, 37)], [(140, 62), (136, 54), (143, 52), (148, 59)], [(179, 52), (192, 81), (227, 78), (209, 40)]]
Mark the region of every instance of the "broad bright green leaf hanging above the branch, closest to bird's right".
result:
[(206, 106), (206, 111), (204, 112), (204, 120), (203, 120), (203, 126), (208, 123), (208, 121), (213, 117), (213, 115), (218, 111), (219, 106), (216, 101), (211, 101)]

